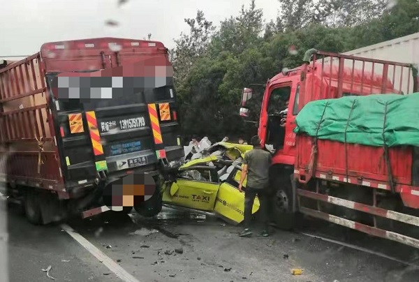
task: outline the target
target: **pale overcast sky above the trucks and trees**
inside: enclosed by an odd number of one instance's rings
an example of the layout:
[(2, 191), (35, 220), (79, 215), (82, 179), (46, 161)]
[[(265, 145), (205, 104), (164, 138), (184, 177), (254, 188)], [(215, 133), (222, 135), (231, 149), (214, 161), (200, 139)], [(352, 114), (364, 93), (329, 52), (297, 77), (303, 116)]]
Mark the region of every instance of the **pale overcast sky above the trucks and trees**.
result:
[[(0, 0), (0, 56), (29, 55), (43, 43), (103, 36), (153, 40), (173, 47), (173, 38), (188, 31), (185, 17), (203, 10), (218, 25), (237, 15), (250, 0), (128, 0), (117, 8), (118, 0)], [(256, 0), (265, 20), (277, 17), (278, 0)], [(106, 20), (119, 22), (108, 27)], [(3, 59), (3, 58), (0, 58)]]

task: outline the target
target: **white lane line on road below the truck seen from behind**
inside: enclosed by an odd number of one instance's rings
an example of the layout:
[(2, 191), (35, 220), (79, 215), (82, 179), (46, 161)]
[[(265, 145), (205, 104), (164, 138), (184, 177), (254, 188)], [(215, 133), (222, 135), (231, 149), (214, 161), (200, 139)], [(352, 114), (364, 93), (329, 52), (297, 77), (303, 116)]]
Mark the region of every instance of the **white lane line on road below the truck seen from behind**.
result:
[(123, 269), (120, 265), (118, 265), (116, 262), (114, 262), (111, 258), (108, 257), (108, 255), (105, 255), (101, 250), (96, 248), (93, 244), (91, 244), (87, 239), (82, 237), (78, 232), (75, 232), (73, 228), (66, 224), (61, 224), (61, 228), (63, 228), (64, 231), (68, 233), (75, 241), (77, 241), (80, 245), (83, 246), (89, 253), (94, 255), (99, 261), (103, 262), (103, 265), (108, 267), (108, 269), (115, 273), (122, 281), (125, 282), (140, 282), (138, 279), (136, 279), (134, 276), (126, 272), (125, 269)]

